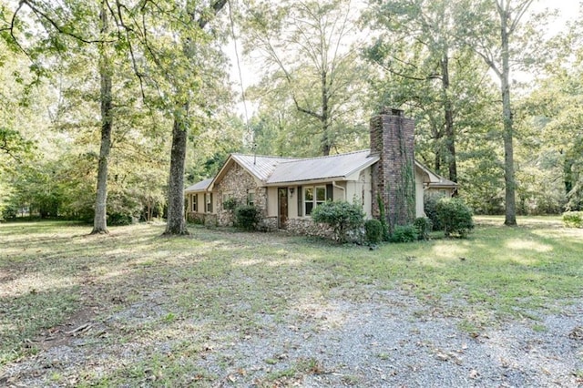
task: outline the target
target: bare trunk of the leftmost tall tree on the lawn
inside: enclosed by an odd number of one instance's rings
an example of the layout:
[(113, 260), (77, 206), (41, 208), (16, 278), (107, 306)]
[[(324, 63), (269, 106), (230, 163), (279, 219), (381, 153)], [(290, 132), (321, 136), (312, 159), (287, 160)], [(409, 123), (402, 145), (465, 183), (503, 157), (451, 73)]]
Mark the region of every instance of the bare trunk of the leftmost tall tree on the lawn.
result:
[[(105, 35), (108, 30), (107, 7), (105, 2), (101, 5), (101, 33)], [(101, 146), (99, 148), (99, 161), (97, 167), (97, 196), (95, 201), (95, 217), (91, 234), (108, 233), (107, 230), (107, 163), (111, 149), (111, 128), (113, 122), (112, 96), (111, 96), (111, 64), (107, 57), (107, 47), (101, 44), (99, 58), (99, 76), (101, 77)]]

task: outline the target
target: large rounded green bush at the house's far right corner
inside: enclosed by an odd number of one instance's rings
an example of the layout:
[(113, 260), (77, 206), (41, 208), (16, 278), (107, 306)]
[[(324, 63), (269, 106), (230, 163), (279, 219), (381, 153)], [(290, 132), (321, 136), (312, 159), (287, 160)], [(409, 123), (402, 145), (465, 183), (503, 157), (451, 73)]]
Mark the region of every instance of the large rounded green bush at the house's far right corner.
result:
[(472, 210), (462, 199), (442, 198), (435, 206), (437, 220), (445, 232), (445, 236), (458, 235), (466, 237), (474, 229)]

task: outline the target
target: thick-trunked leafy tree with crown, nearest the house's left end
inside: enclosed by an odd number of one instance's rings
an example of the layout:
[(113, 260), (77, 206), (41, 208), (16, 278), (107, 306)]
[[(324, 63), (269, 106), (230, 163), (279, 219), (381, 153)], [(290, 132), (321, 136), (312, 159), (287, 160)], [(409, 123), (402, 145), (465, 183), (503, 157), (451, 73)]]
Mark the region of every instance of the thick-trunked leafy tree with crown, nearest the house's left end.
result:
[(157, 104), (172, 117), (168, 220), (164, 234), (189, 234), (184, 218), (184, 173), (189, 132), (211, 116), (208, 85), (222, 76), (210, 54), (217, 31), (205, 27), (227, 0), (210, 4), (147, 2), (133, 7), (117, 4), (134, 71), (158, 90)]

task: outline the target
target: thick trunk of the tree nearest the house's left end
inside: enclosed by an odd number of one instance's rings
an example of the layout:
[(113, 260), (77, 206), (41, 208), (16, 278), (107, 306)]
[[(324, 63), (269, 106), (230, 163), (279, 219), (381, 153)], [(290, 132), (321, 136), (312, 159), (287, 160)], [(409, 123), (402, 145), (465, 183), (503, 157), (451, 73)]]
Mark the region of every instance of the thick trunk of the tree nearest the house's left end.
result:
[(168, 187), (168, 221), (165, 235), (186, 235), (189, 230), (184, 220), (184, 165), (188, 134), (184, 117), (188, 114), (188, 104), (184, 111), (174, 115), (172, 128), (172, 149), (170, 151), (170, 177)]

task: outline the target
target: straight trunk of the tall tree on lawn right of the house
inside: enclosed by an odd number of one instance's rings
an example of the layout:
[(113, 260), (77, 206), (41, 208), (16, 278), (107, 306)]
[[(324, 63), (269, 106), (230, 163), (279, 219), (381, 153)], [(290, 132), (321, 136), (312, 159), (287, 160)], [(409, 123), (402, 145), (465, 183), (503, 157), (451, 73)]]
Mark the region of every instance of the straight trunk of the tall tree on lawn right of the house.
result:
[(512, 108), (510, 105), (510, 61), (508, 52), (508, 26), (509, 19), (506, 7), (500, 7), (501, 39), (502, 39), (502, 117), (504, 120), (504, 179), (506, 189), (506, 219), (507, 226), (517, 225), (516, 182), (514, 175), (514, 146)]

